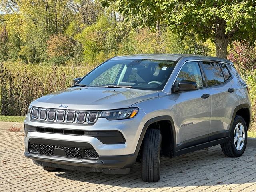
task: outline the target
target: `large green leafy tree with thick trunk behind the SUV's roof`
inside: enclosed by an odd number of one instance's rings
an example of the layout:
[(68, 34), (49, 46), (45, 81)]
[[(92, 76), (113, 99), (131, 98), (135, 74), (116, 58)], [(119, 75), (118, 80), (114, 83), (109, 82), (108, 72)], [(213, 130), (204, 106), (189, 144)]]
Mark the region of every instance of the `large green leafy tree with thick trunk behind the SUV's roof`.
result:
[(184, 38), (198, 34), (202, 41), (211, 39), (216, 56), (226, 58), (233, 41), (254, 45), (256, 39), (255, 0), (101, 0), (103, 6), (118, 4), (118, 11), (136, 26), (167, 26)]

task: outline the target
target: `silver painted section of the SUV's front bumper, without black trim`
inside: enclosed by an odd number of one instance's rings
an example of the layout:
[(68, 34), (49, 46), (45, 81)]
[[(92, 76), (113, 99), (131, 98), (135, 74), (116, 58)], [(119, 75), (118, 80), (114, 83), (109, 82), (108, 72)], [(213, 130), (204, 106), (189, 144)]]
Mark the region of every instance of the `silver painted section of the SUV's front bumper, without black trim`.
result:
[(76, 124), (60, 124), (60, 123), (46, 123), (34, 122), (30, 120), (30, 116), (26, 116), (24, 125), (34, 128), (47, 128), (56, 130), (79, 130), (84, 132), (120, 132), (124, 137), (123, 144), (104, 144), (105, 142), (96, 136), (88, 135), (72, 135), (72, 134), (58, 134), (49, 132), (28, 131), (25, 134), (25, 148), (28, 148), (30, 138), (48, 139), (48, 140), (62, 140), (70, 142), (84, 142), (89, 143), (96, 150), (99, 156), (119, 156), (135, 154), (138, 140), (142, 132), (145, 114), (141, 110), (132, 119), (109, 121), (105, 118), (98, 118), (93, 125), (76, 125)]

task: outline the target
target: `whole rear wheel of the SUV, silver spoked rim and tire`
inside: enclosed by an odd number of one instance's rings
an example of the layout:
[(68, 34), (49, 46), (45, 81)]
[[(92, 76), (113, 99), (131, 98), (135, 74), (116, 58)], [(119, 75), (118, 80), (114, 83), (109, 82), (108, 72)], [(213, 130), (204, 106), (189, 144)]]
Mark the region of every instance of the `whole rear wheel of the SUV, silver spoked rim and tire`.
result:
[(236, 116), (231, 129), (230, 140), (221, 144), (222, 152), (228, 157), (240, 157), (247, 144), (247, 126), (241, 116)]

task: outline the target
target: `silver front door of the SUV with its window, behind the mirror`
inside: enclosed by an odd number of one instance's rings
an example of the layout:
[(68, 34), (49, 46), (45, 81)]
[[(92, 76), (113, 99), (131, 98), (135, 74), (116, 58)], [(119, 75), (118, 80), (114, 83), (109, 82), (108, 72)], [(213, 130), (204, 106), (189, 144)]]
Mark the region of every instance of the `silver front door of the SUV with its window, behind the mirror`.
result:
[[(178, 149), (208, 142), (211, 97), (197, 61), (186, 62), (175, 83), (181, 80), (196, 82), (198, 89), (173, 93), (178, 115)], [(202, 98), (203, 97), (203, 98)]]

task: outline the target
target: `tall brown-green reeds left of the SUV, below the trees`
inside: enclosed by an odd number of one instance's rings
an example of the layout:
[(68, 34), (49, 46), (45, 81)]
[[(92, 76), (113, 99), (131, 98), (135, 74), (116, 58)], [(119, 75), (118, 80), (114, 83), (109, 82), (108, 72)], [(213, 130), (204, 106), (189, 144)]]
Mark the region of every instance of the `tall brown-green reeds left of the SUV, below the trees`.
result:
[(44, 67), (22, 63), (0, 64), (2, 115), (25, 116), (29, 104), (50, 92), (66, 89), (91, 68)]

